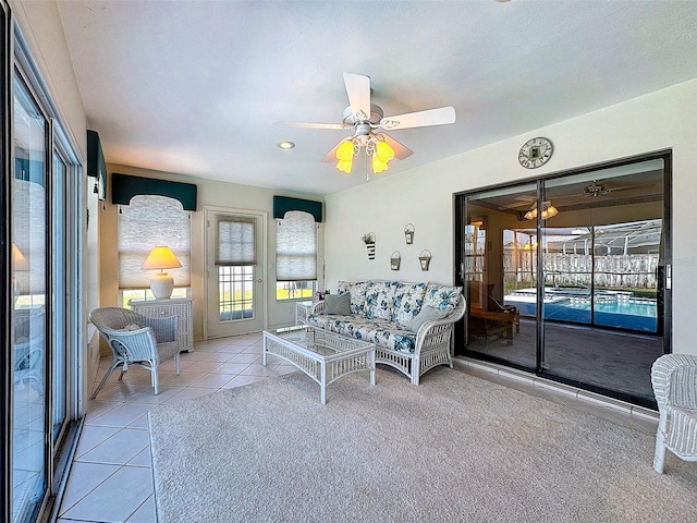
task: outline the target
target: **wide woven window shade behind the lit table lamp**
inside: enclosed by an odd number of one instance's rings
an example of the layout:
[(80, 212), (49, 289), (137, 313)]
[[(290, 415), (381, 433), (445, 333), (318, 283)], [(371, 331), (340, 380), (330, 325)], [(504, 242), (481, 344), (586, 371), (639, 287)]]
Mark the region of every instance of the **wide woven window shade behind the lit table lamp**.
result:
[(140, 267), (152, 247), (167, 245), (182, 267), (167, 269), (174, 287), (191, 285), (191, 221), (173, 198), (139, 195), (119, 214), (119, 289), (147, 289), (155, 270)]

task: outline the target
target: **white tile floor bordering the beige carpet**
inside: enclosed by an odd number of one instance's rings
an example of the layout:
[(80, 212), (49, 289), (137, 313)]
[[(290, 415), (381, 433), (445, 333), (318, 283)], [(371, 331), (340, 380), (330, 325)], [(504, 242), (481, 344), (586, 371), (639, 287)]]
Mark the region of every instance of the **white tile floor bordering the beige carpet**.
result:
[[(93, 390), (110, 363), (110, 357), (102, 360)], [(588, 401), (577, 391), (562, 391), (529, 378), (513, 379), (477, 365), (458, 362), (456, 368), (570, 409), (656, 433), (657, 419), (639, 411), (613, 409)], [(97, 399), (90, 402), (58, 522), (156, 522), (148, 410), (294, 370), (295, 367), (276, 357), (270, 357), (265, 367), (261, 335), (256, 333), (196, 343), (193, 353), (182, 354), (180, 376), (174, 373), (173, 362), (162, 366), (158, 396), (152, 393), (147, 370), (131, 367), (121, 382), (119, 373), (114, 372)], [(406, 378), (404, 384), (409, 386)]]

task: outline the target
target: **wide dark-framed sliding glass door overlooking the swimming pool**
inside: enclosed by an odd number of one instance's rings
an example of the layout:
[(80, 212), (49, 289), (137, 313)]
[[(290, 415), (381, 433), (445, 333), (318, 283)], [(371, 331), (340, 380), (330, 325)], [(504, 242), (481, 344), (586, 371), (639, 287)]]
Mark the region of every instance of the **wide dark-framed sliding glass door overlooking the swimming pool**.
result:
[(670, 348), (667, 187), (670, 154), (458, 196), (457, 351), (653, 406), (650, 366)]

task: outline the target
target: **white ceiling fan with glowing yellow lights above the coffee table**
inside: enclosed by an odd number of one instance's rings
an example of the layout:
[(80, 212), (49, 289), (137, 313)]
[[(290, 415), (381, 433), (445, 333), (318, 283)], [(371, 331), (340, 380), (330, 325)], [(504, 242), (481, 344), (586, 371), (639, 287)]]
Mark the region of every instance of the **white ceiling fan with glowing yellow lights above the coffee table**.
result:
[(277, 122), (277, 125), (293, 127), (352, 130), (351, 136), (342, 138), (321, 159), (337, 161), (340, 171), (351, 172), (353, 157), (362, 150), (372, 158), (374, 172), (386, 170), (393, 158), (403, 160), (414, 154), (384, 131), (455, 123), (455, 108), (452, 106), (384, 117), (382, 108), (370, 102), (369, 76), (344, 73), (344, 85), (348, 107), (344, 109), (342, 123)]

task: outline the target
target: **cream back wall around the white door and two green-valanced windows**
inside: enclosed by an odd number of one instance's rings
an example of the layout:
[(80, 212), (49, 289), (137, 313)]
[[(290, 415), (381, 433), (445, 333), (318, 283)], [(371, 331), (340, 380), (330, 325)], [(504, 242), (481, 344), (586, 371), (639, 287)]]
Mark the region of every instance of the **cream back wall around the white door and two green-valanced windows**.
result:
[[(267, 252), (267, 317), (268, 327), (276, 328), (292, 325), (295, 320), (294, 302), (276, 301), (276, 220), (273, 220), (273, 196), (291, 196), (295, 198), (321, 200), (316, 195), (301, 193), (289, 193), (288, 191), (273, 191), (270, 188), (253, 187), (234, 183), (201, 180), (199, 178), (187, 177), (170, 172), (151, 171), (135, 167), (118, 166), (109, 163), (107, 166), (109, 178), (112, 172), (122, 174), (134, 174), (137, 177), (157, 178), (161, 180), (172, 180), (175, 182), (193, 183), (198, 187), (197, 211), (192, 212), (192, 295), (194, 297), (194, 339), (201, 340), (204, 337), (204, 288), (205, 288), (205, 229), (204, 229), (204, 207), (224, 207), (230, 209), (244, 209), (262, 211), (268, 215), (268, 230), (266, 252)], [(102, 241), (100, 245), (100, 305), (118, 305), (119, 295), (119, 266), (117, 251), (117, 226), (118, 206), (111, 205), (111, 184), (109, 182), (107, 202), (103, 209), (99, 210), (99, 235), (102, 239), (112, 239), (109, 242)], [(318, 248), (323, 251), (323, 224), (318, 231)]]

